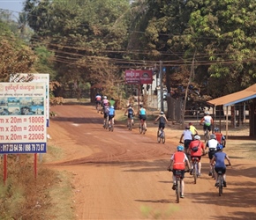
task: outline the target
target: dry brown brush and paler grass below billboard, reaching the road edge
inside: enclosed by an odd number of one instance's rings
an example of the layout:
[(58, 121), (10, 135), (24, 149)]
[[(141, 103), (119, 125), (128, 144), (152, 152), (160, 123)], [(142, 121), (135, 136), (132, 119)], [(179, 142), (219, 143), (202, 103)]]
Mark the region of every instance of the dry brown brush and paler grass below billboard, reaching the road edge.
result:
[[(57, 148), (51, 148), (60, 152)], [(49, 150), (50, 151), (50, 150)], [(75, 219), (72, 209), (72, 174), (56, 172), (38, 163), (34, 155), (8, 155), (8, 178), (0, 182), (0, 219)], [(0, 166), (3, 173), (3, 166)]]

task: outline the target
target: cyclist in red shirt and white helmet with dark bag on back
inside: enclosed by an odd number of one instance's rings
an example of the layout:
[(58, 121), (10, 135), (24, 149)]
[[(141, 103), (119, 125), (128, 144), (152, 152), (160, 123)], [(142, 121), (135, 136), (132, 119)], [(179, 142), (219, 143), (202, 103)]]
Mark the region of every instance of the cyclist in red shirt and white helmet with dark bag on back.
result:
[[(194, 136), (194, 140), (189, 144), (188, 153), (191, 155), (191, 160), (193, 158), (198, 158), (199, 161), (199, 173), (198, 175), (201, 175), (201, 156), (202, 154), (205, 154), (205, 144), (200, 142), (200, 136)], [(192, 161), (191, 161), (192, 163)], [(193, 169), (194, 167), (192, 167)], [(192, 172), (190, 173), (192, 175)]]

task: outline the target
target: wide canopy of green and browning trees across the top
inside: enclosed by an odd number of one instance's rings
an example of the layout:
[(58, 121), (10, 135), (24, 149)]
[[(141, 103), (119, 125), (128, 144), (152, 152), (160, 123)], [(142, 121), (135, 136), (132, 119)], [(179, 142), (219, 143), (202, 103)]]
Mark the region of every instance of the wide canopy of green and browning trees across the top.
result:
[(255, 10), (253, 0), (26, 0), (19, 26), (34, 31), (41, 64), (28, 63), (78, 92), (87, 82), (117, 87), (125, 69), (161, 60), (168, 88), (191, 81), (215, 98), (256, 82)]

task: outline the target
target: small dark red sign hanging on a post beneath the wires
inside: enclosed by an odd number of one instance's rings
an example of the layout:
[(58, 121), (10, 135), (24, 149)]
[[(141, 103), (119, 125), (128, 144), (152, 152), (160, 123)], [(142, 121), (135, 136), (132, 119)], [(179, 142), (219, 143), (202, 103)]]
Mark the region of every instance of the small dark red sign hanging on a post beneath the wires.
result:
[(126, 84), (152, 84), (152, 70), (125, 70)]

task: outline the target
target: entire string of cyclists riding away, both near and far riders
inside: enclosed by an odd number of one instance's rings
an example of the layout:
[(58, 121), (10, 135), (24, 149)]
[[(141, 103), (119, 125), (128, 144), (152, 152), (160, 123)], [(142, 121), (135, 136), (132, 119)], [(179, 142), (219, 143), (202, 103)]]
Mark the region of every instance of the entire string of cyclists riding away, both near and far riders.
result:
[[(115, 117), (115, 108), (113, 105), (109, 104), (109, 100), (106, 96), (103, 96), (102, 99), (99, 98), (100, 95), (96, 95), (95, 101), (96, 106), (97, 104), (101, 103), (102, 105), (102, 114), (104, 114), (104, 124), (105, 126), (106, 119), (109, 117), (109, 126), (110, 121), (112, 120), (112, 123), (114, 124), (114, 117)], [(143, 105), (139, 105), (139, 121), (145, 124), (145, 128), (147, 130), (147, 111), (143, 107)], [(134, 108), (132, 105), (128, 105), (124, 115), (127, 115), (127, 127), (129, 126), (129, 123), (134, 124), (133, 117), (136, 115)], [(159, 121), (158, 125), (158, 131), (160, 129), (165, 128), (165, 124), (169, 122), (163, 112), (160, 112), (160, 114), (157, 116), (157, 118), (154, 120), (154, 122)], [(201, 119), (200, 124), (203, 123), (203, 130), (204, 133), (206, 133), (206, 130), (209, 132), (212, 130), (212, 125), (214, 124), (213, 118), (209, 115), (209, 113), (205, 113), (205, 116)], [(183, 145), (177, 146), (177, 152), (175, 152), (170, 160), (169, 165), (167, 167), (167, 170), (172, 170), (173, 175), (173, 186), (172, 189), (176, 189), (176, 172), (181, 171), (182, 172), (182, 186), (181, 186), (181, 198), (184, 198), (184, 170), (185, 166), (188, 167), (188, 170), (190, 171), (190, 174), (192, 175), (192, 159), (196, 158), (198, 160), (198, 176), (201, 175), (201, 156), (208, 154), (209, 158), (209, 176), (212, 176), (213, 166), (215, 168), (215, 172), (222, 172), (223, 176), (223, 187), (227, 187), (226, 183), (226, 165), (225, 165), (225, 159), (228, 160), (229, 165), (230, 164), (230, 158), (226, 153), (224, 153), (222, 150), (225, 148), (226, 140), (225, 136), (222, 135), (219, 128), (214, 128), (214, 133), (209, 136), (209, 140), (207, 141), (206, 145), (200, 141), (200, 136), (198, 134), (197, 128), (195, 128), (192, 125), (192, 122), (190, 122), (187, 126), (185, 126), (185, 129), (180, 136), (180, 143), (184, 143)], [(182, 140), (184, 139), (184, 142)], [(207, 151), (208, 149), (208, 151)], [(171, 169), (172, 166), (172, 169)], [(218, 187), (218, 180), (215, 181), (215, 187)]]

